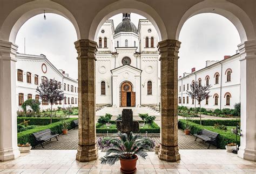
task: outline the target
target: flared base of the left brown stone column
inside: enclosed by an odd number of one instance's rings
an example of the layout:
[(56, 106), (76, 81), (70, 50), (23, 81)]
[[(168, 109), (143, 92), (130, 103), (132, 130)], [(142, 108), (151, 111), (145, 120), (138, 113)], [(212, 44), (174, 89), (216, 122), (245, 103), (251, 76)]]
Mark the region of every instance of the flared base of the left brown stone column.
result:
[(78, 145), (76, 160), (80, 162), (89, 162), (98, 158), (98, 149), (95, 146)]

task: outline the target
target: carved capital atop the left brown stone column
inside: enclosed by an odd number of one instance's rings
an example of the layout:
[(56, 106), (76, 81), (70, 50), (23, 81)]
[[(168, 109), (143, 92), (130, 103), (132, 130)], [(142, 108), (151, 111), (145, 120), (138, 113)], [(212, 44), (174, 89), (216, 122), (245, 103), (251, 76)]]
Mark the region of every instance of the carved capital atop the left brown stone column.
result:
[(79, 58), (93, 58), (96, 60), (96, 52), (98, 50), (97, 42), (89, 39), (79, 39), (75, 43), (77, 54)]

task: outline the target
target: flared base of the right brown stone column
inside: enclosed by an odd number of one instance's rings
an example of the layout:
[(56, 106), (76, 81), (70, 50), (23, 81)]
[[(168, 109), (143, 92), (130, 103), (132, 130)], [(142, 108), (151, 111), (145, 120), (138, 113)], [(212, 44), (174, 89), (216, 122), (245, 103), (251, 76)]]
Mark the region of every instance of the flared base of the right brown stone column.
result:
[(158, 157), (164, 161), (176, 162), (180, 160), (179, 148), (175, 147), (166, 147), (161, 145)]

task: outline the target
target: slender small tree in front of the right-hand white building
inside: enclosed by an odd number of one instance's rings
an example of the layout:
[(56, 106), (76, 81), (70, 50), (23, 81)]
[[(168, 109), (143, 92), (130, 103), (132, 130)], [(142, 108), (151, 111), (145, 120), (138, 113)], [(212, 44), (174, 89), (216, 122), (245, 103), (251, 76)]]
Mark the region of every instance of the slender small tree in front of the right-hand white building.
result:
[(211, 97), (209, 95), (210, 93), (210, 88), (212, 86), (211, 85), (199, 85), (198, 82), (195, 82), (193, 84), (190, 85), (190, 89), (191, 91), (187, 91), (187, 95), (190, 96), (191, 98), (194, 98), (196, 100), (198, 100), (199, 103), (199, 108), (200, 108), (200, 125), (202, 124), (202, 120), (201, 120), (201, 102), (206, 99)]

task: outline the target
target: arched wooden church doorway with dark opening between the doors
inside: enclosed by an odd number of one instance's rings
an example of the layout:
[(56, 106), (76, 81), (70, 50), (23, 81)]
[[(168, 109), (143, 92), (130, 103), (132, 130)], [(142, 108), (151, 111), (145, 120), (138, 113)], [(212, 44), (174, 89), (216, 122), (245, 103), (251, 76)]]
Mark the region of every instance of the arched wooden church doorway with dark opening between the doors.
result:
[(135, 107), (136, 93), (133, 92), (132, 83), (125, 81), (120, 86), (120, 107)]

